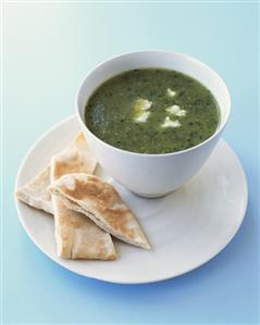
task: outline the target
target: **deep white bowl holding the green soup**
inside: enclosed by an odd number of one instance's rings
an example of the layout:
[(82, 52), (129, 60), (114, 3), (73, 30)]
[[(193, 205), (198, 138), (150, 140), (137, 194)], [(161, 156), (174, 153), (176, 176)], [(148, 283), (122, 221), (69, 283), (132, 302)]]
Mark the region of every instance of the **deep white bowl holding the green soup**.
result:
[[(221, 121), (216, 132), (209, 139), (193, 148), (165, 154), (129, 152), (112, 147), (96, 137), (84, 122), (88, 98), (104, 80), (122, 72), (144, 67), (175, 70), (203, 84), (212, 92), (220, 107)], [(226, 125), (231, 112), (231, 99), (220, 76), (198, 60), (175, 52), (140, 51), (108, 60), (89, 73), (79, 87), (76, 108), (83, 133), (100, 165), (133, 192), (154, 198), (181, 187), (199, 172)]]

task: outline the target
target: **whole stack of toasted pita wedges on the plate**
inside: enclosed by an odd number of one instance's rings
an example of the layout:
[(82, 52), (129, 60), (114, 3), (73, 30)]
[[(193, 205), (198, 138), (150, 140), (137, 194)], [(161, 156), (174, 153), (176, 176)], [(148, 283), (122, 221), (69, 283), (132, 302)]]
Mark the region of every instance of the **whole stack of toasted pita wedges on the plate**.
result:
[(112, 236), (149, 249), (136, 216), (114, 187), (92, 175), (97, 160), (79, 134), (51, 159), (16, 197), (54, 216), (57, 253), (62, 259), (115, 260)]

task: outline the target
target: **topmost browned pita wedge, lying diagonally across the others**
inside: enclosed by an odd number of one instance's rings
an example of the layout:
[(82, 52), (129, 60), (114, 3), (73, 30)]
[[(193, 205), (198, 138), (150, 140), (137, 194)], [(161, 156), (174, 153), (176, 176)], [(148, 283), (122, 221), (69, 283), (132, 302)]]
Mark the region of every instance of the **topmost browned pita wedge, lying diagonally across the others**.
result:
[(69, 209), (86, 214), (111, 235), (150, 249), (136, 217), (111, 184), (94, 175), (71, 174), (52, 183), (49, 190)]

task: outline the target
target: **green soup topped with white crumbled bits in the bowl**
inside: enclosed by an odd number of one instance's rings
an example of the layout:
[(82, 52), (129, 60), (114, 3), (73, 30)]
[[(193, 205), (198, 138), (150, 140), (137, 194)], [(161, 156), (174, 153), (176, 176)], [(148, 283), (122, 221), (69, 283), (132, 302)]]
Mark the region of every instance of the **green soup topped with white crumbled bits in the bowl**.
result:
[(87, 127), (104, 142), (140, 153), (168, 153), (208, 139), (219, 124), (212, 93), (171, 70), (127, 71), (104, 82), (85, 109)]

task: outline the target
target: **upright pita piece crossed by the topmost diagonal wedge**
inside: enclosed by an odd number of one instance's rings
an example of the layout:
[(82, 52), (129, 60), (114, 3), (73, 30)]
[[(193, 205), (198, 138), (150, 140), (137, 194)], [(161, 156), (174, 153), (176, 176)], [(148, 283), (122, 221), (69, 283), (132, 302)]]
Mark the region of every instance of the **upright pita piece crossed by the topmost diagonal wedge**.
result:
[[(82, 134), (60, 154), (51, 159), (51, 180), (64, 174), (92, 173), (97, 165)], [(111, 236), (86, 215), (70, 210), (58, 197), (52, 197), (58, 255), (63, 259), (116, 258)]]

